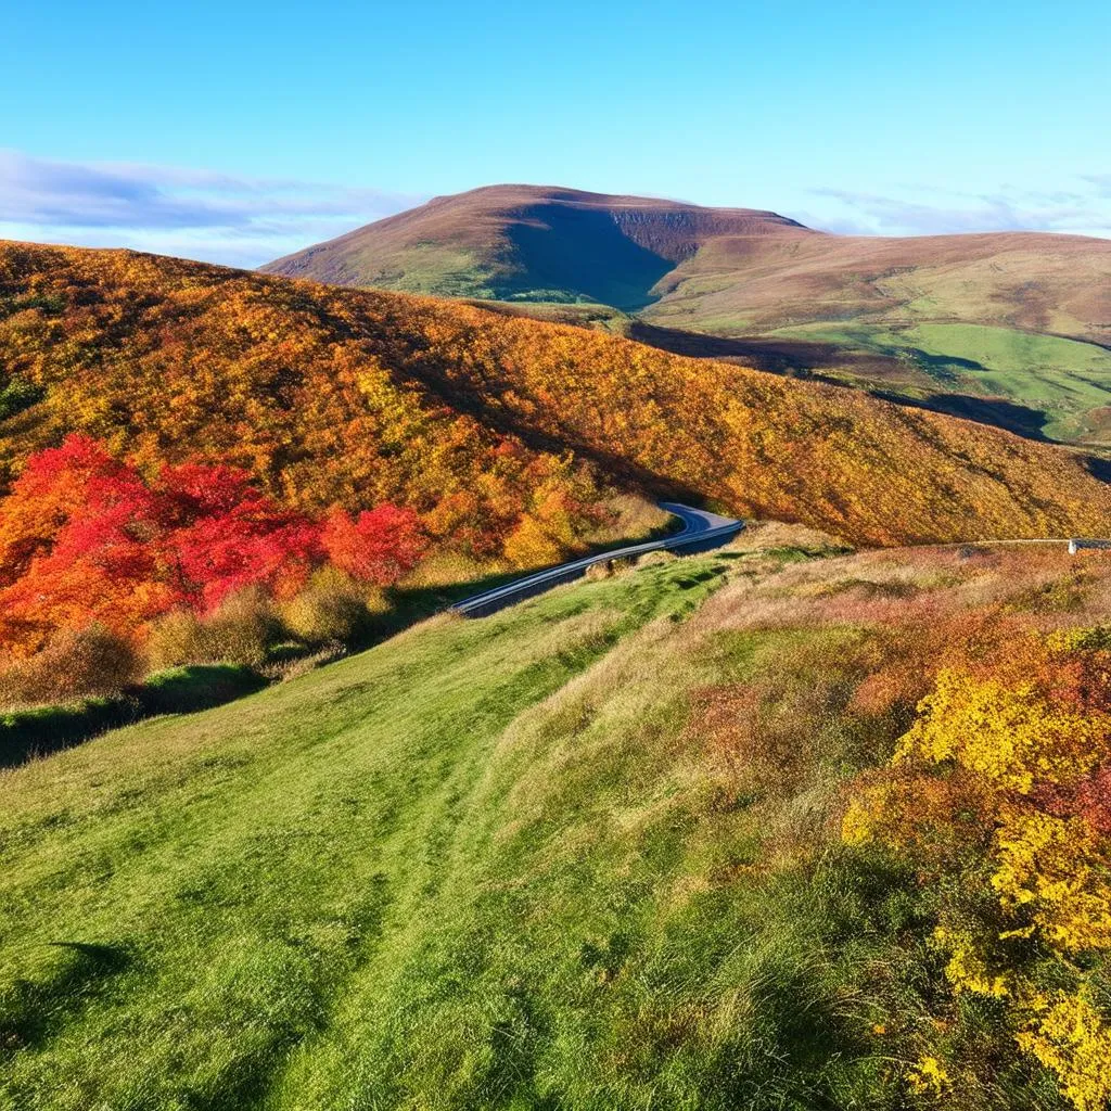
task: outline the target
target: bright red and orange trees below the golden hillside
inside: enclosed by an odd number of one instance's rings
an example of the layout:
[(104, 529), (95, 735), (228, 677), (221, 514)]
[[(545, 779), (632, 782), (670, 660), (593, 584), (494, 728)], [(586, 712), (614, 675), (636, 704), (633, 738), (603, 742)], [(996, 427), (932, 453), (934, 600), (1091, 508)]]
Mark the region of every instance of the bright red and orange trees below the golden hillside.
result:
[(0, 647), (26, 657), (93, 623), (141, 641), (156, 618), (212, 613), (244, 588), (290, 598), (327, 562), (388, 585), (426, 543), (411, 509), (320, 520), (238, 468), (190, 461), (148, 480), (73, 434), (32, 456), (0, 502)]

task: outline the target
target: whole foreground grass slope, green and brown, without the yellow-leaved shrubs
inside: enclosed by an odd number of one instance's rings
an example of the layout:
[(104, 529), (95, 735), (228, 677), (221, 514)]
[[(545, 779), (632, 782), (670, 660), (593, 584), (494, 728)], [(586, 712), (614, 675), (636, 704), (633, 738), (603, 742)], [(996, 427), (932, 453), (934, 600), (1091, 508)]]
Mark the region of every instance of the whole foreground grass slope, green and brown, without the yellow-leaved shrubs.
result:
[(0, 778), (0, 1102), (894, 1109), (942, 1037), (948, 1105), (1059, 1107), (829, 819), (900, 728), (845, 710), (893, 613), (1084, 623), (1111, 580), (798, 554), (436, 621)]

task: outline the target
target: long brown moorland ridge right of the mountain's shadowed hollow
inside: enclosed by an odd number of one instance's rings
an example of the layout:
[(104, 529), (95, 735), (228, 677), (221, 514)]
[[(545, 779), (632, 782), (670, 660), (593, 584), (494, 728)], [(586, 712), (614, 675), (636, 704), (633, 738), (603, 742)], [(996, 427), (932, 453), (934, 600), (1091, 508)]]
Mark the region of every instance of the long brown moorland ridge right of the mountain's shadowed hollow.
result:
[[(725, 234), (660, 283), (645, 313), (721, 334), (815, 321), (944, 319), (1104, 342), (1111, 240), (1038, 232), (881, 238)], [(732, 321), (730, 323), (729, 321)]]

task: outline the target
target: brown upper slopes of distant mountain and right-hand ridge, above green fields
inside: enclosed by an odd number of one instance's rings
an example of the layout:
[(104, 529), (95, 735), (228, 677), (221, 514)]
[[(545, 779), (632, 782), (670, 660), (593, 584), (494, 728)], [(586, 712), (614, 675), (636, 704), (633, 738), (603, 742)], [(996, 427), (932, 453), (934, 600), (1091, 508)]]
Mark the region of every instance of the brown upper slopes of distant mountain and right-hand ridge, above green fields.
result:
[(438, 197), (262, 269), (438, 296), (593, 299), (723, 336), (955, 320), (1111, 338), (1111, 240), (833, 236), (774, 212), (558, 187)]

